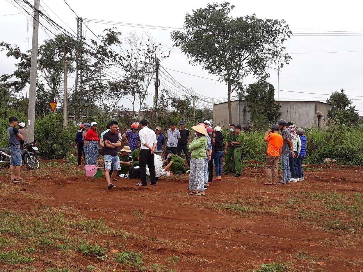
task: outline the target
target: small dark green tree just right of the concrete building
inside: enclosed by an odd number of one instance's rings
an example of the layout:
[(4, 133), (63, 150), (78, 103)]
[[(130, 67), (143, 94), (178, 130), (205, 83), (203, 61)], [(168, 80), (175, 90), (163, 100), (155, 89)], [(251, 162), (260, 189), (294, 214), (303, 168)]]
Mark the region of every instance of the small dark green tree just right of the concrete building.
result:
[(328, 111), (329, 119), (344, 124), (358, 125), (358, 111), (356, 111), (355, 106), (351, 106), (353, 102), (344, 93), (344, 89), (340, 90), (340, 92), (332, 92), (326, 103), (331, 106), (331, 109)]

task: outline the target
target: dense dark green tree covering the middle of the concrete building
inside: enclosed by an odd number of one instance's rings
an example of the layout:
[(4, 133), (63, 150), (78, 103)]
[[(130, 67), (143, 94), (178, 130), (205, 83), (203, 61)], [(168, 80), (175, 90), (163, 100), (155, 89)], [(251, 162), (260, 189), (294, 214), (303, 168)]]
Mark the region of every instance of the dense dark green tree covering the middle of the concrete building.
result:
[(246, 88), (245, 101), (255, 127), (265, 128), (267, 123), (271, 124), (281, 117), (281, 104), (275, 101), (274, 94), (275, 88), (266, 81), (249, 84)]

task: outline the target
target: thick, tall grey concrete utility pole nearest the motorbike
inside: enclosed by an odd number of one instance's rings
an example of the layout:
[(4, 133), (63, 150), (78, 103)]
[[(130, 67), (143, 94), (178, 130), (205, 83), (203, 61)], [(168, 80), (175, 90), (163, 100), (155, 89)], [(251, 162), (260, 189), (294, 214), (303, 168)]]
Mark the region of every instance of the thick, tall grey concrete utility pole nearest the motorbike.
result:
[(28, 138), (34, 141), (34, 123), (35, 123), (35, 99), (37, 88), (37, 66), (38, 66), (38, 30), (39, 30), (39, 1), (34, 1), (33, 15), (33, 38), (32, 38), (32, 55), (30, 64), (30, 84), (29, 84), (29, 106), (28, 106)]

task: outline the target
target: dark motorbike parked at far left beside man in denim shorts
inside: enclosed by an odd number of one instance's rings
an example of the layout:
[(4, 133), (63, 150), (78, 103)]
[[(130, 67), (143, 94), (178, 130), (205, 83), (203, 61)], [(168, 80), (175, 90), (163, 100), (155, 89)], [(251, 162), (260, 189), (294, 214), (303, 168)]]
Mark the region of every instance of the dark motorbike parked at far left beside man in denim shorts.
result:
[[(38, 158), (38, 147), (35, 142), (20, 145), (21, 159), (25, 162), (28, 168), (36, 170), (40, 167), (40, 160)], [(0, 148), (0, 163), (10, 164), (11, 152), (8, 148)]]

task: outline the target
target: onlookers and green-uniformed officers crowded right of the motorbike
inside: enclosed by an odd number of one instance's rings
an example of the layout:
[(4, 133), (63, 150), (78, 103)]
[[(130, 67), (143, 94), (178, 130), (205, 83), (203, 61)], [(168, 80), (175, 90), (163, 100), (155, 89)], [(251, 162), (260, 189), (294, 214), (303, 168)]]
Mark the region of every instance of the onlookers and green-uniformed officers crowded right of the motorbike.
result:
[[(231, 173), (234, 177), (242, 175), (241, 155), (245, 137), (240, 125), (230, 124), (229, 132), (224, 137), (221, 127), (212, 128), (210, 121), (205, 120), (192, 127), (194, 134), (189, 145), (189, 130), (185, 128), (184, 121), (179, 122), (179, 129), (176, 123), (171, 122), (166, 137), (160, 127), (150, 129), (145, 119), (131, 124), (125, 133), (120, 132), (117, 121), (111, 121), (100, 137), (97, 126), (96, 122), (92, 122), (79, 127), (76, 135), (78, 165), (81, 165), (82, 153), (86, 165), (97, 165), (98, 144), (101, 145), (108, 189), (115, 186), (112, 182), (117, 181), (117, 177), (137, 177), (140, 182), (136, 186), (147, 186), (148, 181), (149, 185), (154, 186), (165, 172), (189, 173), (189, 194), (204, 196), (209, 183), (221, 181), (222, 174)], [(278, 133), (280, 130), (282, 136)], [(268, 142), (265, 185), (304, 180), (302, 161), (306, 137), (303, 134), (303, 129), (296, 129), (295, 125), (285, 120), (279, 120), (267, 131), (264, 138)], [(123, 147), (122, 140), (125, 142)], [(181, 157), (182, 152), (185, 159)], [(277, 182), (280, 156), (282, 180)]]

